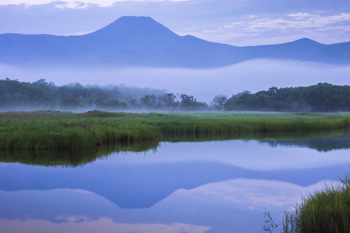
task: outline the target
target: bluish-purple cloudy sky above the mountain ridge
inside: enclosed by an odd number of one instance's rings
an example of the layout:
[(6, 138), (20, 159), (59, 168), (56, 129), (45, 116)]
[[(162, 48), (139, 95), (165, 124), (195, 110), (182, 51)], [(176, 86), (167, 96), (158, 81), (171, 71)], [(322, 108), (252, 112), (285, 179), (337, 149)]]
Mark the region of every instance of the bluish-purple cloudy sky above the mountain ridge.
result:
[(238, 46), (350, 41), (348, 0), (0, 0), (0, 34), (81, 35), (123, 15), (151, 16), (179, 35)]

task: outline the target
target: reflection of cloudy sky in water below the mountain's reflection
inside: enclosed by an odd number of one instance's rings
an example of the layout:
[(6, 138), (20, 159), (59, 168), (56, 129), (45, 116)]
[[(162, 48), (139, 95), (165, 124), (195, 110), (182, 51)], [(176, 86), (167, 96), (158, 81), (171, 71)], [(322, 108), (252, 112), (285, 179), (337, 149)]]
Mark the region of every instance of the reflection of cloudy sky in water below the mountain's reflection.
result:
[(322, 185), (303, 188), (278, 181), (233, 179), (177, 190), (149, 209), (123, 209), (84, 190), (0, 191), (6, 200), (1, 210), (9, 210), (1, 214), (0, 224), (12, 230), (22, 225), (33, 232), (55, 232), (55, 227), (78, 232), (84, 225), (100, 227), (99, 232), (110, 232), (113, 227), (123, 231), (112, 232), (149, 232), (151, 227), (151, 232), (261, 232), (263, 207), (278, 213), (281, 203)]

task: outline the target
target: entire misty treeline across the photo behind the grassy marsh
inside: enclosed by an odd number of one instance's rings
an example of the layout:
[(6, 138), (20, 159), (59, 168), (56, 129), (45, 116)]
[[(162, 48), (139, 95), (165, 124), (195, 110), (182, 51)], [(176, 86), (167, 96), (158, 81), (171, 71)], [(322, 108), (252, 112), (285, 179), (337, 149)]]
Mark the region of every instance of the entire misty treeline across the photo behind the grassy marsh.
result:
[(45, 79), (20, 82), (0, 79), (0, 110), (104, 110), (104, 111), (350, 111), (350, 86), (318, 83), (307, 87), (271, 87), (267, 91), (243, 91), (215, 96), (209, 104), (190, 94), (125, 85), (56, 86)]

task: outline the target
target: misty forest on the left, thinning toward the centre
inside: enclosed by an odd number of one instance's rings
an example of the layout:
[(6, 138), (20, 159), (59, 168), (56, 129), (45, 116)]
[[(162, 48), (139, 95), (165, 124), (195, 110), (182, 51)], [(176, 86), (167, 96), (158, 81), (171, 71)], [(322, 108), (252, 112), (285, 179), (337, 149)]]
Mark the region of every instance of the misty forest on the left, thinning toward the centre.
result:
[(187, 94), (165, 93), (164, 90), (98, 86), (71, 83), (56, 86), (39, 79), (20, 82), (0, 79), (0, 110), (149, 110), (149, 111), (207, 111), (206, 103)]

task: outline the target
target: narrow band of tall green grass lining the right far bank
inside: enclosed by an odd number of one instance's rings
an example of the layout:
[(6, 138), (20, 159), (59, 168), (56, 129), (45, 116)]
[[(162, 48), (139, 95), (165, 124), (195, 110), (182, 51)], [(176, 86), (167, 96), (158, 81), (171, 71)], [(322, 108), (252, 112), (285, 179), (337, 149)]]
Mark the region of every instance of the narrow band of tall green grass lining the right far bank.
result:
[(154, 120), (162, 133), (217, 134), (245, 132), (295, 132), (350, 127), (350, 118), (322, 119), (165, 119)]

